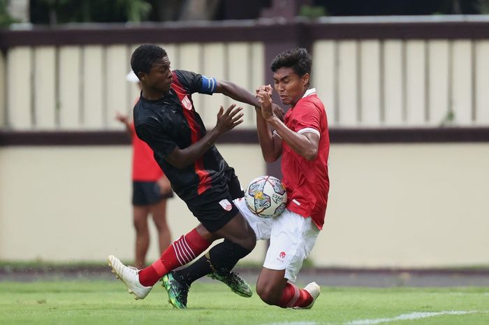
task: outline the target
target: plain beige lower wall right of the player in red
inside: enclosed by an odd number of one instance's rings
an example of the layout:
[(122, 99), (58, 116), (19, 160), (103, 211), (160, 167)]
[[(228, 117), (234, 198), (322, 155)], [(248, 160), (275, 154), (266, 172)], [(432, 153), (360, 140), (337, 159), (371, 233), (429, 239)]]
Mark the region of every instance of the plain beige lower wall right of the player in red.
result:
[(487, 265), (488, 166), (489, 144), (333, 145), (314, 261)]

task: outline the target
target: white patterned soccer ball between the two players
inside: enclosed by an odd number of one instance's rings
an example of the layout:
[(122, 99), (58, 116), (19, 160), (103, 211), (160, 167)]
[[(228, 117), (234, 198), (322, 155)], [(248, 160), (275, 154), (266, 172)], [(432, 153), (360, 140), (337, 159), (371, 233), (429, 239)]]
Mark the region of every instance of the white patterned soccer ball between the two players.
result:
[(287, 192), (278, 178), (260, 176), (249, 182), (245, 202), (249, 210), (258, 217), (277, 217), (285, 209)]

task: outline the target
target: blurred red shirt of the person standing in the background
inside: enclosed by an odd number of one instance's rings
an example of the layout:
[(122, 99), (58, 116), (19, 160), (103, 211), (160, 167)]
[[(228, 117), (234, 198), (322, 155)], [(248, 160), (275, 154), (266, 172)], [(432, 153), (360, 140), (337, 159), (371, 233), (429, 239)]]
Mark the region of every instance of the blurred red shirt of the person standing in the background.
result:
[(133, 143), (133, 180), (140, 182), (156, 182), (163, 171), (154, 160), (153, 150), (136, 135), (134, 124), (130, 124)]

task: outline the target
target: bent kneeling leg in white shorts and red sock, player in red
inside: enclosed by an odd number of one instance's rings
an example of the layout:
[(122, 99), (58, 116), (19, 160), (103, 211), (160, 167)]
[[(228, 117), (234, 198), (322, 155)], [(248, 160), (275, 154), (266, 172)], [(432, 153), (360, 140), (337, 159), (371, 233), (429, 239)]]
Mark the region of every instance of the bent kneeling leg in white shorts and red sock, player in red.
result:
[(311, 218), (289, 210), (273, 219), (270, 247), (256, 282), (256, 293), (269, 305), (311, 308), (320, 287), (312, 282), (304, 289), (293, 284), (302, 262), (314, 247), (319, 229)]

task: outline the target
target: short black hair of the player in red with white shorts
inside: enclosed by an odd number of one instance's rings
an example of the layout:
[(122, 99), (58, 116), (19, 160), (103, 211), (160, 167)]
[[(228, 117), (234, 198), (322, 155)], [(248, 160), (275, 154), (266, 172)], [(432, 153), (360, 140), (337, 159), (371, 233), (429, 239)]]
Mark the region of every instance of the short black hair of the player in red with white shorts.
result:
[(302, 77), (306, 73), (311, 74), (312, 59), (305, 48), (294, 48), (279, 53), (273, 59), (270, 68), (273, 72), (279, 68), (293, 68), (293, 71)]

